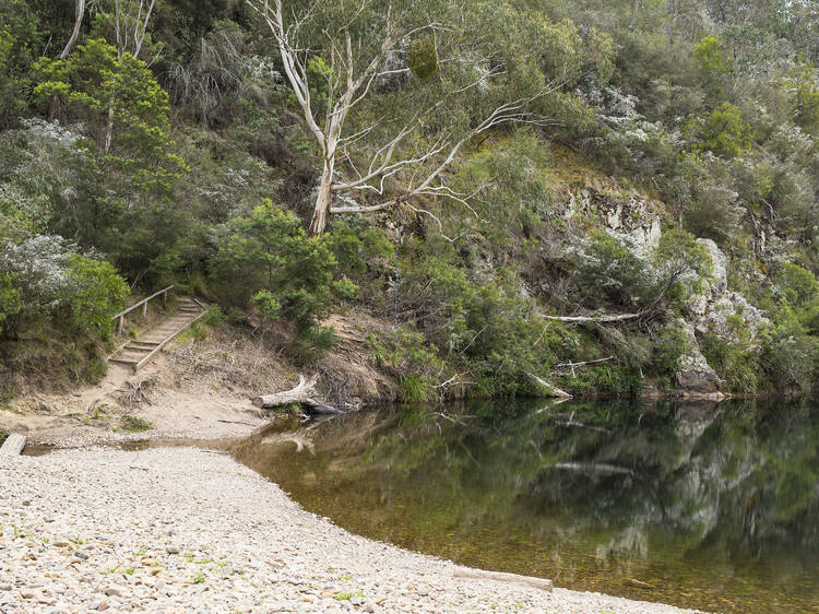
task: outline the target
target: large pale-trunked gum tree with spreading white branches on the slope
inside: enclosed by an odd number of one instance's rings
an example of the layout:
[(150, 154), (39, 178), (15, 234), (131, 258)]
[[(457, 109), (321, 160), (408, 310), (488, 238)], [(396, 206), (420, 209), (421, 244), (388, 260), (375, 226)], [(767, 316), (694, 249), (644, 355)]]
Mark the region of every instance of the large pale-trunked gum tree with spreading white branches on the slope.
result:
[[(442, 228), (439, 217), (417, 204), (425, 197), (455, 201), (477, 215), (468, 202), (474, 192), (452, 189), (444, 170), (466, 143), (497, 126), (550, 125), (536, 113), (537, 102), (569, 81), (567, 67), (574, 63), (567, 58), (563, 68), (545, 75), (533, 49), (549, 24), (525, 21), (503, 3), (247, 2), (273, 34), (321, 152), (310, 236), (324, 232), (331, 214), (376, 212), (399, 203)], [(502, 40), (497, 39), (498, 20), (509, 22), (506, 32), (511, 34)], [(368, 121), (351, 120), (371, 104), (373, 92), (390, 83), (402, 91), (400, 113), (368, 108)], [(465, 104), (467, 99), (474, 104)], [(340, 177), (342, 164), (347, 179)], [(364, 192), (375, 202), (353, 200)]]

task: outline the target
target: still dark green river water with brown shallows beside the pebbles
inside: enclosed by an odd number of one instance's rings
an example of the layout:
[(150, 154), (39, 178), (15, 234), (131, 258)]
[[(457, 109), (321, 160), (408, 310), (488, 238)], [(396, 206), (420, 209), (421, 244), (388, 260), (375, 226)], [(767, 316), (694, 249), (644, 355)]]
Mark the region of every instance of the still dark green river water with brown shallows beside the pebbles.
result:
[(405, 409), (280, 427), (235, 452), (353, 532), (462, 564), (710, 611), (819, 612), (816, 399), (450, 412), (460, 424)]

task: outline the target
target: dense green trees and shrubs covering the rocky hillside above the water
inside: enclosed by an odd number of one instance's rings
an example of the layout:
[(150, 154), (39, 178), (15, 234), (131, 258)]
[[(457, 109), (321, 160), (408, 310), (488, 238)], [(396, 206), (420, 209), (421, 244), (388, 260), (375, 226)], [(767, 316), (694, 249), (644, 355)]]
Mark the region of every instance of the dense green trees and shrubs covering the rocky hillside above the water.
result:
[(811, 2), (0, 9), (5, 398), (171, 283), (408, 401), (819, 380)]

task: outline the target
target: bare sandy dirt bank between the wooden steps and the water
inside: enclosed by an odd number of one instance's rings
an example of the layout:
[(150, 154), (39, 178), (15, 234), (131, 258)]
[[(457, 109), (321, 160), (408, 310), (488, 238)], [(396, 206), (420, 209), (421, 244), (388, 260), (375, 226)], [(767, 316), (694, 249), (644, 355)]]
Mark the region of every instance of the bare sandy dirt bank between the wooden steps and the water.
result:
[[(394, 382), (369, 365), (361, 327), (339, 316), (328, 323), (339, 343), (313, 367), (327, 398), (347, 406), (394, 399)], [(241, 437), (272, 415), (254, 408), (252, 398), (298, 381), (298, 368), (280, 354), (275, 346), (227, 326), (205, 335), (190, 333), (139, 374), (111, 364), (96, 385), (67, 393), (43, 392), (48, 389), (44, 381), (26, 390), (0, 405), (0, 429), (60, 447)]]

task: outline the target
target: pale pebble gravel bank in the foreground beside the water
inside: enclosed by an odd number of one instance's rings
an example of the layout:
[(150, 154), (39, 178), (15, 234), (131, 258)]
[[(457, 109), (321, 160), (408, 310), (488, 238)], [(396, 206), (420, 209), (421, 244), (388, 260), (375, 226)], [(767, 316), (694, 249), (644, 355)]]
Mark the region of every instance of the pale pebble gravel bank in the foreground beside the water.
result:
[(682, 612), (456, 579), (191, 448), (0, 459), (0, 612)]

